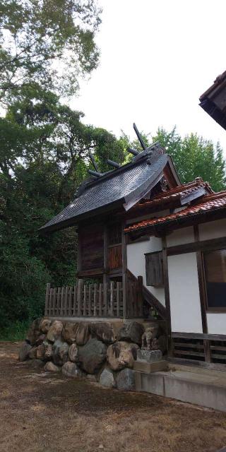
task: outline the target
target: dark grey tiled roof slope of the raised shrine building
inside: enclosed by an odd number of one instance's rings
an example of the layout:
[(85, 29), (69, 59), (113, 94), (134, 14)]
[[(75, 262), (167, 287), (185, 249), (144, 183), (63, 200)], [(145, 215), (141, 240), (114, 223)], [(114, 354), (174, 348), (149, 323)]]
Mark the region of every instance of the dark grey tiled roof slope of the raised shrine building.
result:
[[(167, 154), (144, 155), (140, 160), (124, 165), (85, 185), (83, 192), (57, 216), (49, 220), (41, 230), (56, 230), (71, 224), (84, 214), (93, 215), (99, 208), (119, 202), (121, 206), (132, 198), (136, 202), (162, 177), (167, 162), (172, 162)], [(139, 196), (141, 194), (141, 196)]]

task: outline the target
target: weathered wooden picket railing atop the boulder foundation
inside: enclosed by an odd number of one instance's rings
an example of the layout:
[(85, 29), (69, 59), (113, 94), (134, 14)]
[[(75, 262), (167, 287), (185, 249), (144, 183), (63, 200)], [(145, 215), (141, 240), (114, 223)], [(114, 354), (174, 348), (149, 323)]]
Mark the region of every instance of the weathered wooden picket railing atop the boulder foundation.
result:
[(120, 282), (50, 287), (47, 284), (45, 316), (118, 317), (124, 316)]

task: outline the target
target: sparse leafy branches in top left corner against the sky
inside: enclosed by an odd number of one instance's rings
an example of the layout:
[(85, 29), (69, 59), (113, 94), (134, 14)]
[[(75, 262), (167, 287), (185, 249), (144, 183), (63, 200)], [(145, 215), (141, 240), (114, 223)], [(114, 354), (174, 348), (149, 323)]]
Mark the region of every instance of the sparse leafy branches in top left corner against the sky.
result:
[(95, 0), (2, 0), (0, 99), (37, 85), (76, 93), (79, 77), (97, 67), (100, 12)]

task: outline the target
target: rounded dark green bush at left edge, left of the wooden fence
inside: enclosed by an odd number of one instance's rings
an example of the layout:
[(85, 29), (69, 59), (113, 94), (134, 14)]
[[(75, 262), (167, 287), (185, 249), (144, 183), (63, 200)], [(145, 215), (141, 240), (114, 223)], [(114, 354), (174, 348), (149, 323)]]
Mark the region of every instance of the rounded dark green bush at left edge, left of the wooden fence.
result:
[(24, 321), (42, 314), (43, 287), (49, 274), (43, 263), (30, 256), (28, 239), (0, 222), (0, 328), (11, 321)]

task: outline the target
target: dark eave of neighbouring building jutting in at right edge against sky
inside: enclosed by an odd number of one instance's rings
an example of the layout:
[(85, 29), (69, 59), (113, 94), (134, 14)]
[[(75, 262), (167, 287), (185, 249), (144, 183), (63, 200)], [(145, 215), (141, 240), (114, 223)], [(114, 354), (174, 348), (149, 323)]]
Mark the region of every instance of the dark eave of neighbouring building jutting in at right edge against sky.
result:
[(199, 98), (200, 106), (226, 130), (226, 71)]

